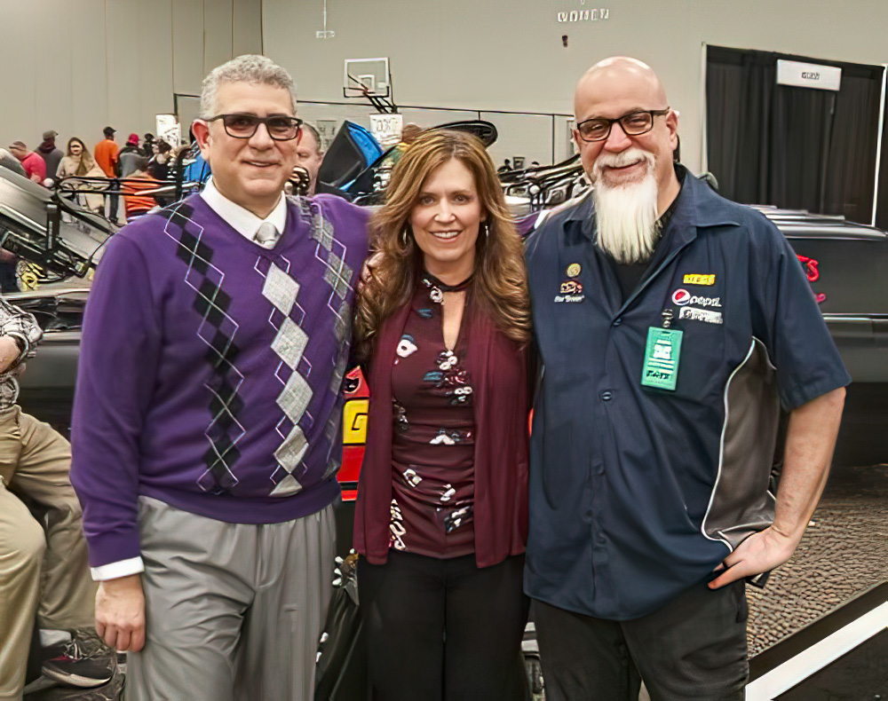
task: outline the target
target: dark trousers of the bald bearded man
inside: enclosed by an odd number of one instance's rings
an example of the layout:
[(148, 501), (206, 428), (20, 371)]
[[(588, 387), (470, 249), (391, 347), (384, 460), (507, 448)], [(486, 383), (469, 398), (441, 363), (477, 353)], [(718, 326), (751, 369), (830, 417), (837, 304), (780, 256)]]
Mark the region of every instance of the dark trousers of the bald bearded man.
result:
[(628, 621), (534, 601), (546, 701), (742, 701), (749, 678), (745, 583), (703, 582)]

